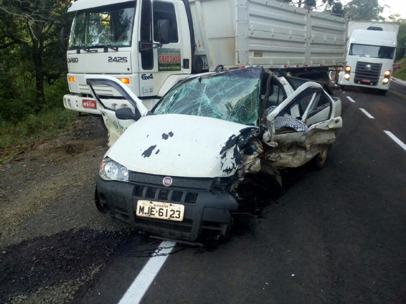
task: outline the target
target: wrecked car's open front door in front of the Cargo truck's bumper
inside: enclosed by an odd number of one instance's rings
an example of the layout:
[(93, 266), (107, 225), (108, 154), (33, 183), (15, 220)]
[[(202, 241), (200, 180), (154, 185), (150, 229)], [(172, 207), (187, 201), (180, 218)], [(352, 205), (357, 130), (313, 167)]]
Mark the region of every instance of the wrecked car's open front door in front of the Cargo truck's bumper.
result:
[[(97, 108), (103, 116), (103, 121), (108, 131), (109, 146), (111, 146), (130, 125), (147, 115), (148, 109), (142, 101), (118, 79), (108, 75), (86, 75), (85, 80), (94, 100), (96, 100)], [(120, 95), (121, 98), (125, 99), (127, 101), (126, 106), (118, 109), (108, 107), (103, 100), (110, 96), (103, 96), (96, 93), (97, 91), (103, 91), (103, 87), (105, 86), (111, 87), (113, 92), (115, 91), (115, 96)]]

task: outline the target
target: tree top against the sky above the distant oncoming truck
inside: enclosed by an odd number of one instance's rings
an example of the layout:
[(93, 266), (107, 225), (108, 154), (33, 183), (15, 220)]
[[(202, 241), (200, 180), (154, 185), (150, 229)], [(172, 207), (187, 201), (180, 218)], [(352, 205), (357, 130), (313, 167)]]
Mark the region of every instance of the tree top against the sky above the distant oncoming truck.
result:
[(382, 21), (383, 9), (378, 0), (352, 0), (344, 7), (344, 13), (353, 20)]

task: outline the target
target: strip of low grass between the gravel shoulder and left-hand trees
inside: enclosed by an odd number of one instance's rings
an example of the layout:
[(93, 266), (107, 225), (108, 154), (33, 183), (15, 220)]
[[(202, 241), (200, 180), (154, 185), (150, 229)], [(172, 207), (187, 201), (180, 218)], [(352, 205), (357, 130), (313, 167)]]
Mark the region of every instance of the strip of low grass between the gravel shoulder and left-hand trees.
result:
[(36, 141), (46, 141), (65, 131), (77, 113), (54, 108), (29, 115), (17, 124), (0, 124), (0, 163), (17, 151), (26, 150)]

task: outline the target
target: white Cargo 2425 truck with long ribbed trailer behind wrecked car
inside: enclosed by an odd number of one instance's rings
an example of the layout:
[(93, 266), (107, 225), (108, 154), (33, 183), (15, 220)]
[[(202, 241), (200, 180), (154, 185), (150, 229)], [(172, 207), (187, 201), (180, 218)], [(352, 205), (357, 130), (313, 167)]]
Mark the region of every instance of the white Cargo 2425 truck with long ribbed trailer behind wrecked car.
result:
[[(193, 73), (246, 66), (291, 75), (342, 66), (348, 20), (274, 0), (75, 0), (67, 46), (71, 94), (65, 108), (100, 115), (86, 74), (121, 80), (152, 109)], [(318, 74), (319, 73), (319, 74)], [(107, 106), (127, 106), (114, 89), (96, 86)]]

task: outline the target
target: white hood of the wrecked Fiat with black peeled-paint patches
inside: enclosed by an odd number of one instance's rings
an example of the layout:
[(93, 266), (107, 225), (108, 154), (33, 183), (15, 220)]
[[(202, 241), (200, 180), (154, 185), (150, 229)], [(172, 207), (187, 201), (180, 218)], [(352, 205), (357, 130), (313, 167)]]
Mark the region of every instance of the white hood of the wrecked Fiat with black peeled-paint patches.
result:
[(238, 143), (257, 129), (225, 120), (179, 114), (145, 116), (106, 156), (130, 171), (183, 177), (226, 177), (241, 161)]

